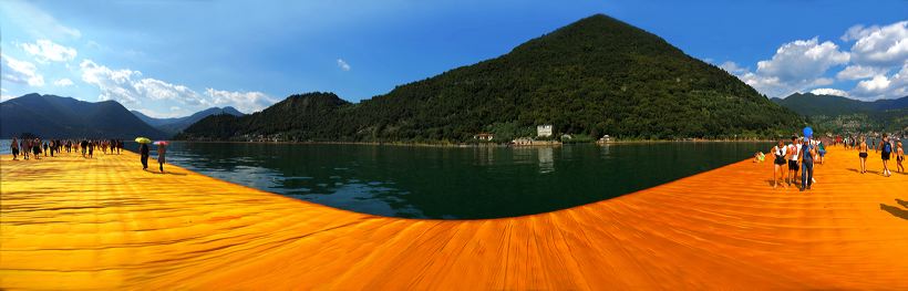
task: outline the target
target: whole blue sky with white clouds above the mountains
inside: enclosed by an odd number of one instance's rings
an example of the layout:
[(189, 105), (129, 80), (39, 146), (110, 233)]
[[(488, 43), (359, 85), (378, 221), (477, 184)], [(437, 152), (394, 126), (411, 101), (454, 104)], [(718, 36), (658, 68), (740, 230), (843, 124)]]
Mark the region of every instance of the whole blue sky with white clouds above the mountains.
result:
[(908, 95), (908, 1), (0, 1), (2, 98), (116, 100), (158, 117), (386, 93), (595, 13), (768, 96)]

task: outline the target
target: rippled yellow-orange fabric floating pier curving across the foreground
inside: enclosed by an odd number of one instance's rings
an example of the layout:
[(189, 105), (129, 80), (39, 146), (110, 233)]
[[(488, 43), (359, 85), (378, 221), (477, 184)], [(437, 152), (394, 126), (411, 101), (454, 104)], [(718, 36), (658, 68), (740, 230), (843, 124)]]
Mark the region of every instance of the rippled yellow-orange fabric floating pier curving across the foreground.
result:
[(873, 152), (861, 175), (829, 148), (806, 193), (744, 160), (482, 220), (355, 214), (132, 153), (9, 159), (0, 289), (908, 290), (908, 175), (880, 176)]

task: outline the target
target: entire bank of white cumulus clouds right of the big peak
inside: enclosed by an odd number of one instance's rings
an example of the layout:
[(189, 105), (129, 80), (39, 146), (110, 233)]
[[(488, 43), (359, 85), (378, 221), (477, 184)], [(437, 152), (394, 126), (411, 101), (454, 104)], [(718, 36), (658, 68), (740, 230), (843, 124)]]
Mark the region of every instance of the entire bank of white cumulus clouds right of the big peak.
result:
[[(854, 25), (842, 41), (854, 42), (850, 51), (830, 41), (795, 40), (781, 45), (770, 60), (751, 71), (734, 62), (719, 66), (768, 96), (794, 92), (819, 92), (861, 100), (901, 97), (908, 86), (908, 21), (888, 25)], [(829, 70), (845, 65), (829, 77)], [(899, 70), (899, 67), (901, 70)], [(889, 72), (897, 71), (889, 75)], [(834, 71), (835, 72), (835, 71)], [(835, 89), (836, 81), (859, 81), (852, 90)], [(832, 85), (833, 87), (827, 87)]]

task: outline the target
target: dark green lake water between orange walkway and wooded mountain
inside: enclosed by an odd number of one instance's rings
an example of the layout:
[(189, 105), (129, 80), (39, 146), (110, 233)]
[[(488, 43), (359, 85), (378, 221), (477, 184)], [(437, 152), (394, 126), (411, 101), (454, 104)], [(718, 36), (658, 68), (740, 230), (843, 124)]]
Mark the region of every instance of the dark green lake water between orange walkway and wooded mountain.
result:
[[(9, 141), (4, 142), (0, 146), (8, 153)], [(472, 219), (538, 214), (609, 199), (739, 162), (771, 146), (173, 143), (167, 160), (211, 177), (358, 212)], [(135, 150), (137, 145), (127, 143), (126, 147)]]

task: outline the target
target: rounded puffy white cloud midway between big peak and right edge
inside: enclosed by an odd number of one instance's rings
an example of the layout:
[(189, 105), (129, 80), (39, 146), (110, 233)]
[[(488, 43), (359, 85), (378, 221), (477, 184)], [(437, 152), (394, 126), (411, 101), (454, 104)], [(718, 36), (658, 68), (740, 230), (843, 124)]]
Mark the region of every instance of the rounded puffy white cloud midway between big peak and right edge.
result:
[(783, 82), (804, 82), (818, 77), (829, 67), (848, 62), (847, 52), (829, 41), (819, 43), (817, 38), (796, 40), (776, 50), (772, 60), (756, 63), (756, 73), (777, 76)]

